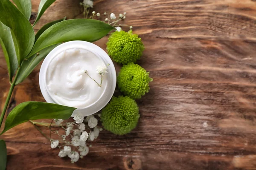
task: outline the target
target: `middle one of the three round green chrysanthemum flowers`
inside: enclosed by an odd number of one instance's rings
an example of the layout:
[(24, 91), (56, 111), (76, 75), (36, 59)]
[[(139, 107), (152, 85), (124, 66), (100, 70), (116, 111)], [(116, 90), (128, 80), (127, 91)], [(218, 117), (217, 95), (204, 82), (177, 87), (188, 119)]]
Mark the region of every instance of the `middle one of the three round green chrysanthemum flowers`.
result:
[(125, 96), (132, 99), (140, 99), (149, 90), (148, 83), (153, 79), (149, 77), (149, 72), (140, 65), (129, 63), (124, 65), (117, 77), (117, 85)]

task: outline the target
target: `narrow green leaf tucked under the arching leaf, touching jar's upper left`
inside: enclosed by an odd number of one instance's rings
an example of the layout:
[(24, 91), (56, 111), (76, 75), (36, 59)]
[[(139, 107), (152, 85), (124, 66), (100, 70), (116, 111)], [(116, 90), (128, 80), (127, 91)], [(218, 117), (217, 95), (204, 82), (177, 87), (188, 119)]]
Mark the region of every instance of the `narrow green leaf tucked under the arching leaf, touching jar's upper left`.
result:
[(23, 82), (23, 80), (29, 76), (29, 74), (34, 70), (34, 68), (39, 64), (39, 62), (41, 62), (41, 60), (44, 59), (47, 56), (47, 54), (58, 45), (60, 44), (55, 44), (47, 48), (44, 48), (43, 50), (39, 51), (39, 54), (34, 54), (29, 59), (25, 59), (20, 66), (20, 72), (18, 74), (15, 85)]

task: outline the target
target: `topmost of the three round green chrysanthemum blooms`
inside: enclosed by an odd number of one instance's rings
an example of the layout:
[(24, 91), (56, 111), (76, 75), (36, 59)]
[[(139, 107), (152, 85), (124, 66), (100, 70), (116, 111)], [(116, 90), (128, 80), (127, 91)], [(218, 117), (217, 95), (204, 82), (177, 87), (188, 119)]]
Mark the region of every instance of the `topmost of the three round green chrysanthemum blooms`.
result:
[(107, 50), (115, 62), (127, 64), (140, 59), (144, 45), (137, 34), (132, 34), (132, 30), (115, 31), (108, 38)]

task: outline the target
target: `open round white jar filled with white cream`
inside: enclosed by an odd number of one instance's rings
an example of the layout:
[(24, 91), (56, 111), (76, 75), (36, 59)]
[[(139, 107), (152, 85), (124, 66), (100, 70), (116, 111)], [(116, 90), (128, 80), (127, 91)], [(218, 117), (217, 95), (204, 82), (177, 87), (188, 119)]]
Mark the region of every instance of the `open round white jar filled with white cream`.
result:
[[(97, 68), (107, 68), (108, 73), (102, 77)], [(58, 45), (44, 59), (39, 85), (47, 102), (77, 108), (73, 115), (89, 116), (110, 101), (116, 88), (116, 71), (99, 46), (70, 41)]]

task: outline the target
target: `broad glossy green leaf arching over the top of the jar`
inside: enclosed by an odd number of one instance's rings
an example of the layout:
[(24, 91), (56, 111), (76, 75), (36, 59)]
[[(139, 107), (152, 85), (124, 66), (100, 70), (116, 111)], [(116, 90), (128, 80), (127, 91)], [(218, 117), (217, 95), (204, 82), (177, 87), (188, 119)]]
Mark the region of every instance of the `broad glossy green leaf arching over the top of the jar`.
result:
[(29, 57), (50, 45), (60, 42), (73, 40), (93, 42), (99, 40), (112, 29), (115, 28), (102, 21), (92, 19), (73, 19), (56, 23), (41, 34)]

